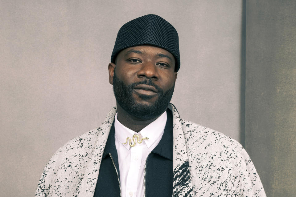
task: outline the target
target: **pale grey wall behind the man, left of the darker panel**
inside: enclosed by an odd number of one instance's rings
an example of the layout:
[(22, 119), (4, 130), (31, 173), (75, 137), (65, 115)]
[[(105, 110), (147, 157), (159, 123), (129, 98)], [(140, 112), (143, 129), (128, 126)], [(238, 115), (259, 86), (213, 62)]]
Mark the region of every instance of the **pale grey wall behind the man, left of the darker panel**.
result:
[[(179, 33), (172, 103), (181, 117), (244, 144), (245, 8), (234, 0), (0, 1), (1, 196), (33, 196), (54, 152), (101, 124), (115, 105), (107, 66), (117, 31), (145, 14)], [(248, 149), (272, 187), (266, 163)]]

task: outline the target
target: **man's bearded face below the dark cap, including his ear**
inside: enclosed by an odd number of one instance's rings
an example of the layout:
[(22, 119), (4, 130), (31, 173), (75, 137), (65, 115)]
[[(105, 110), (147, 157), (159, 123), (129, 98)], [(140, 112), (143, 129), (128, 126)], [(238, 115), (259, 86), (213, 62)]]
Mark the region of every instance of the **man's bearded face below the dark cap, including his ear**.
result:
[(117, 103), (138, 119), (155, 118), (167, 109), (176, 78), (174, 56), (156, 46), (127, 48), (117, 55), (116, 65), (109, 64)]

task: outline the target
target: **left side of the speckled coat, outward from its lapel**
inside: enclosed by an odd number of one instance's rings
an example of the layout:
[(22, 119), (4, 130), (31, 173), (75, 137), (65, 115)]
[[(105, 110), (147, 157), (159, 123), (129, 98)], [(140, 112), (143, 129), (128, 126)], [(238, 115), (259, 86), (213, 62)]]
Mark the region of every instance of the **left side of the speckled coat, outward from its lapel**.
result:
[[(97, 144), (98, 136), (104, 135), (103, 132), (105, 131), (98, 127), (69, 140), (60, 147), (44, 168), (35, 196), (59, 194), (60, 191), (56, 191), (55, 188), (64, 188), (67, 185), (78, 188), (84, 176), (83, 171)], [(72, 181), (69, 182), (68, 179)]]

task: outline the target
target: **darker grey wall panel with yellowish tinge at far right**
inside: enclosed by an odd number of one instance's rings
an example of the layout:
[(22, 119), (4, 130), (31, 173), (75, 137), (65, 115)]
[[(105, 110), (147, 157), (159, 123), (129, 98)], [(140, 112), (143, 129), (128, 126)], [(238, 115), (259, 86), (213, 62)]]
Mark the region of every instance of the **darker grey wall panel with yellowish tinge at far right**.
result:
[(296, 196), (296, 1), (246, 2), (246, 130), (267, 196)]

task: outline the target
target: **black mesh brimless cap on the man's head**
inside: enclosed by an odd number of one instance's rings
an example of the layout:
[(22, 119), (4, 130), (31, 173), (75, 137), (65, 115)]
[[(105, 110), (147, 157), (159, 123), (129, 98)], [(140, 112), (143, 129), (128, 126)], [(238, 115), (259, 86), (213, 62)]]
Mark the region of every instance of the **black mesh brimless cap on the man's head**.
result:
[(177, 30), (165, 19), (148, 14), (125, 23), (118, 31), (111, 62), (115, 63), (121, 50), (139, 45), (158, 46), (169, 51), (176, 60), (175, 71), (179, 70), (179, 36)]

